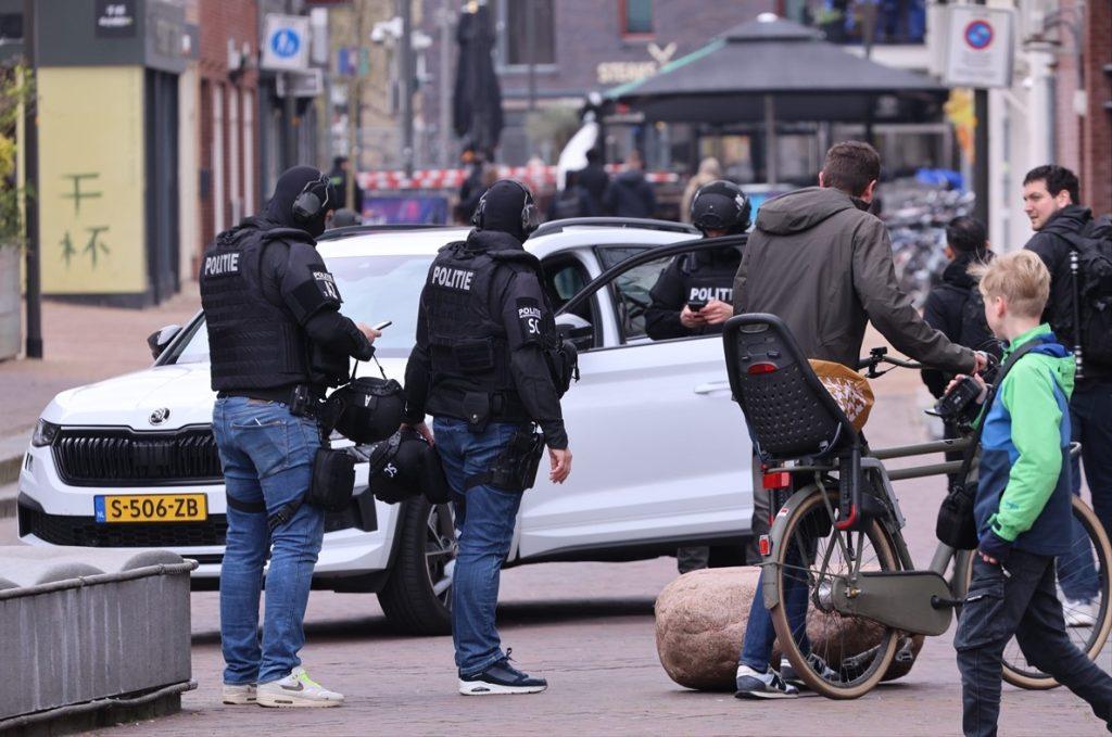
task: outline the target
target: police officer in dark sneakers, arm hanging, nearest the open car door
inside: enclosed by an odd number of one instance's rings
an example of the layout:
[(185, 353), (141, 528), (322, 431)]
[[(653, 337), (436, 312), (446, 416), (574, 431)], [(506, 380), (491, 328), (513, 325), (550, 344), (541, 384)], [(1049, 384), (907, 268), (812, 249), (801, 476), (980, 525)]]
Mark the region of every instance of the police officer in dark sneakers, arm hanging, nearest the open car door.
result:
[(464, 695), (548, 686), (512, 665), (495, 627), (499, 571), (542, 437), (549, 479), (562, 484), (572, 471), (559, 406), (566, 356), (540, 289), (540, 265), (522, 247), (537, 221), (524, 185), (504, 179), (487, 190), (467, 240), (444, 247), (429, 269), (406, 368), (406, 420), (431, 440), (424, 418), (433, 415), (456, 507), (451, 629)]

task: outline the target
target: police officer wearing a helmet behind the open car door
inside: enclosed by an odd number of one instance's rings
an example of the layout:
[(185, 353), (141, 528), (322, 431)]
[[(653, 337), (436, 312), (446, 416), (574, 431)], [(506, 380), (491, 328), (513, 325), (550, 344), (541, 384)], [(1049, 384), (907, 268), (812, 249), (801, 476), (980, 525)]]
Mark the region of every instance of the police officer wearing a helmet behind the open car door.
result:
[[(744, 233), (749, 200), (737, 185), (716, 180), (692, 199), (692, 223), (705, 238)], [(653, 340), (722, 332), (734, 316), (734, 276), (742, 262), (736, 245), (675, 258), (661, 273), (645, 310), (645, 332)]]

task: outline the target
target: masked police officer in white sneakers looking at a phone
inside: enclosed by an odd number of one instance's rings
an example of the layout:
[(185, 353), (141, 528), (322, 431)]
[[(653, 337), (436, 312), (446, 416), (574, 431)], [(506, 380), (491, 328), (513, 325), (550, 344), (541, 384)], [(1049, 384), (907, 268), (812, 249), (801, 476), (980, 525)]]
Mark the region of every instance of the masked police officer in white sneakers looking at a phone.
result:
[(301, 504), (321, 447), (316, 408), (328, 387), (346, 380), (350, 358), (371, 357), (379, 335), (340, 313), (336, 282), (315, 248), (337, 205), (327, 177), (294, 167), (279, 177), (265, 212), (218, 235), (202, 261), (218, 397), (212, 431), (228, 498), (220, 570), (225, 704), (344, 701), (309, 679), (298, 658), (324, 536), (324, 512)]

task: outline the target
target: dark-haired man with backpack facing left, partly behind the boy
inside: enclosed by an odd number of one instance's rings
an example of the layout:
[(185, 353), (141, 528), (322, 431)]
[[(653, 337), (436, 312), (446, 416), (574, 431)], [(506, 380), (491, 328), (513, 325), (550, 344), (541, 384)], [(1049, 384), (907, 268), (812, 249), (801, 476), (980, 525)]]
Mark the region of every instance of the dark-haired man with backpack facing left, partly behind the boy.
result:
[[(1078, 205), (1078, 178), (1064, 167), (1036, 167), (1023, 179), (1023, 211), (1035, 231), (1024, 247), (1034, 251), (1050, 270), (1050, 300), (1043, 320), (1066, 346), (1074, 345), (1073, 277), (1070, 275), (1068, 236), (1082, 233), (1092, 220), (1088, 208)], [(1084, 362), (1070, 398), (1073, 439), (1081, 442), (1085, 480), (1093, 499), (1093, 511), (1112, 535), (1112, 367)], [(1081, 494), (1081, 466), (1073, 458), (1073, 492)], [(1079, 525), (1074, 539), (1086, 538)], [(1088, 542), (1085, 542), (1088, 545)], [(1099, 606), (1098, 580), (1091, 556), (1068, 556), (1059, 569), (1066, 624), (1084, 627), (1093, 624)], [(1075, 561), (1081, 561), (1079, 568)]]

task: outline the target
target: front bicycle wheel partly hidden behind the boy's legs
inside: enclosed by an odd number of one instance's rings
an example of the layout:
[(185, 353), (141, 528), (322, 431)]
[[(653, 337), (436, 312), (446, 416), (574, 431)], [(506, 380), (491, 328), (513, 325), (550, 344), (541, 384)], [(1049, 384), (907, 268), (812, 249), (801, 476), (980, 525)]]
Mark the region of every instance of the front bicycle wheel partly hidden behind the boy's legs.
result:
[[(1098, 592), (1099, 604), (1092, 626), (1066, 627), (1070, 639), (1079, 650), (1096, 660), (1104, 651), (1109, 633), (1112, 631), (1112, 606), (1109, 606), (1110, 584), (1112, 584), (1112, 547), (1096, 515), (1080, 497), (1073, 497), (1074, 529), (1080, 530), (1073, 541), (1073, 549), (1058, 558), (1059, 599), (1063, 612), (1069, 616), (1073, 610), (1066, 605), (1064, 590), (1085, 590)], [(966, 584), (973, 577), (973, 556), (970, 556), (965, 570)], [(1094, 580), (1095, 579), (1095, 580)], [(1064, 586), (1063, 586), (1064, 585)], [(1112, 656), (1105, 658), (1112, 661)], [(1059, 683), (1045, 673), (1031, 665), (1019, 643), (1013, 637), (1004, 647), (1004, 680), (1031, 690), (1055, 688)], [(1105, 666), (1106, 668), (1106, 666)]]

